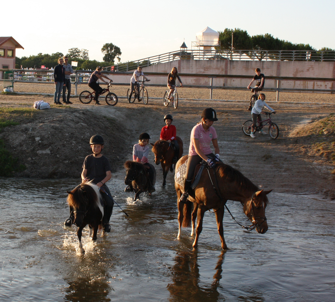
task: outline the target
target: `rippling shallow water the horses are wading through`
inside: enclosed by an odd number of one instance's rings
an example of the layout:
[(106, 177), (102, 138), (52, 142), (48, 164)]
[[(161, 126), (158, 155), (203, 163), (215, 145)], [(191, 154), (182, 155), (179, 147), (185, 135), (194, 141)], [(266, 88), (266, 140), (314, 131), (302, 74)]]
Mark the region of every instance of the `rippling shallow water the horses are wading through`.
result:
[[(111, 233), (94, 244), (85, 228), (84, 255), (76, 228), (63, 227), (66, 191), (78, 179), (0, 179), (0, 301), (334, 300), (334, 201), (271, 193), (263, 235), (226, 213), (226, 252), (207, 212), (193, 251), (190, 229), (176, 239), (172, 174), (136, 203), (116, 176), (108, 185), (129, 218), (114, 207)], [(240, 203), (228, 207), (246, 223)]]

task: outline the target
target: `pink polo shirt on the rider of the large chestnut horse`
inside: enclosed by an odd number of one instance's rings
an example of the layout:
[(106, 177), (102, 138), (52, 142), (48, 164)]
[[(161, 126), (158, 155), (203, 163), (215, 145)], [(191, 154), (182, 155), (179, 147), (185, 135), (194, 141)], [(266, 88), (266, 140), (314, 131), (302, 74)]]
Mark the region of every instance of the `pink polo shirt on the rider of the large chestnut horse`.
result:
[(210, 142), (216, 138), (216, 131), (212, 126), (209, 127), (207, 131), (205, 131), (204, 127), (202, 127), (202, 123), (194, 126), (191, 132), (189, 156), (198, 155), (198, 153), (195, 151), (193, 139), (199, 140), (200, 150), (206, 155), (212, 153), (212, 150), (210, 149)]

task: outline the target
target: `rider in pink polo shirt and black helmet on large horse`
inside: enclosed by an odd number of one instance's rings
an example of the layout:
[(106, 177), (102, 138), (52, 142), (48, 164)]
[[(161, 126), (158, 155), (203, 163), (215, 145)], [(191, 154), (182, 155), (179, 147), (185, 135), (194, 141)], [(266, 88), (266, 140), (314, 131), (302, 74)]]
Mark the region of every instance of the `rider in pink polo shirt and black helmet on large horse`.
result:
[[(212, 127), (215, 121), (217, 121), (216, 111), (213, 108), (206, 108), (202, 111), (201, 123), (192, 129), (189, 155), (186, 164), (184, 193), (180, 198), (181, 202), (187, 202), (189, 196), (188, 190), (191, 186), (196, 165), (203, 159), (207, 161), (211, 168), (214, 168), (215, 163), (220, 161), (217, 135), (215, 129)], [(210, 142), (212, 142), (214, 146), (215, 155), (210, 148)]]

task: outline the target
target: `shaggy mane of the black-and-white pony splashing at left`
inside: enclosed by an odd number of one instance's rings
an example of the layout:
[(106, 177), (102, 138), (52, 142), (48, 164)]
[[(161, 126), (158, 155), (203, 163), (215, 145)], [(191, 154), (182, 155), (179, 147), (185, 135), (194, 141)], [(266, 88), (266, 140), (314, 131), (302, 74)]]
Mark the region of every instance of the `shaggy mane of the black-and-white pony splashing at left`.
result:
[(94, 207), (96, 206), (98, 195), (91, 182), (81, 183), (80, 187), (68, 192), (67, 202), (73, 208), (79, 208), (83, 200), (88, 200)]

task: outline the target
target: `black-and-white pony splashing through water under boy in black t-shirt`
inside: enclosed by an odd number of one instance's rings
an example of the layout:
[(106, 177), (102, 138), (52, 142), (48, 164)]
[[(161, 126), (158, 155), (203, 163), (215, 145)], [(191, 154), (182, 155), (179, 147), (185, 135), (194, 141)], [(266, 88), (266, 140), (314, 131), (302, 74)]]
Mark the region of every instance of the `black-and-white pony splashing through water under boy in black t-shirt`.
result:
[(70, 209), (73, 209), (74, 224), (78, 227), (77, 236), (79, 240), (78, 249), (84, 253), (81, 243), (81, 234), (83, 228), (89, 226), (89, 237), (92, 233), (93, 242), (96, 240), (97, 231), (102, 230), (102, 219), (104, 216), (103, 198), (99, 193), (99, 187), (94, 183), (81, 183), (75, 187), (67, 197), (67, 203)]

